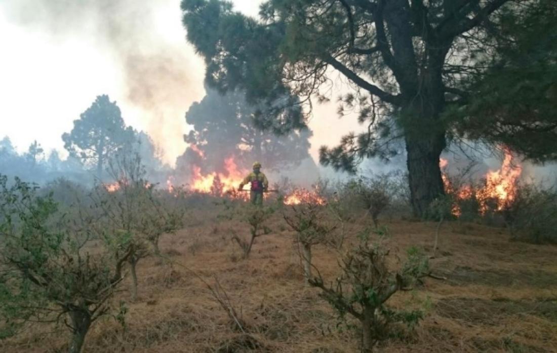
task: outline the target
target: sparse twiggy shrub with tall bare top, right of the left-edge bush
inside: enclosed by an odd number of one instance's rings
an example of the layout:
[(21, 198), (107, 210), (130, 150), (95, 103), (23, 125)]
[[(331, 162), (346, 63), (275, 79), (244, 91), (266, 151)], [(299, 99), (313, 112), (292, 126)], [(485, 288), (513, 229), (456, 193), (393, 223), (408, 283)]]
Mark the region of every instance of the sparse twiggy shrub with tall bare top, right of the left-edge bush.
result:
[[(100, 211), (100, 233), (113, 256), (128, 252), (133, 277), (132, 297), (137, 296), (136, 265), (153, 252), (159, 252), (159, 239), (182, 227), (185, 208), (172, 209), (163, 203), (155, 185), (145, 178), (145, 168), (138, 153), (119, 155), (109, 162), (109, 172), (116, 180), (114, 190), (97, 185), (91, 199)], [(182, 198), (178, 193), (176, 198)]]

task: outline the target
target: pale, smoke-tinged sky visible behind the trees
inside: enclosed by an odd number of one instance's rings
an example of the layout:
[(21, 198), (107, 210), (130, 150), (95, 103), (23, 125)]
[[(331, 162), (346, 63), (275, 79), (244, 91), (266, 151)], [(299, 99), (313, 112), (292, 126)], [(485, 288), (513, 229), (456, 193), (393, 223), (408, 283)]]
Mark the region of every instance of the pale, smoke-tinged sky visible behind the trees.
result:
[[(256, 16), (261, 0), (235, 0)], [(108, 94), (126, 124), (149, 133), (173, 165), (187, 147), (184, 114), (204, 96), (204, 64), (185, 40), (180, 0), (0, 0), (0, 139), (63, 153), (61, 135)], [(335, 97), (335, 96), (334, 96)], [(333, 97), (333, 98), (334, 98)], [(358, 129), (334, 104), (310, 120), (311, 155)]]

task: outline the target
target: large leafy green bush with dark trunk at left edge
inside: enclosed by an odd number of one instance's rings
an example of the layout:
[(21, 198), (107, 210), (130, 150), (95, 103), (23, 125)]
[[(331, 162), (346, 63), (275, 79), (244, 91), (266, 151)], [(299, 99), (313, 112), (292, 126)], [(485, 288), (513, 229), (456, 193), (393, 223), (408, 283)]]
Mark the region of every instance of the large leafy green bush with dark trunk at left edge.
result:
[(110, 299), (131, 251), (114, 262), (106, 252), (89, 254), (94, 217), (56, 220), (52, 194), (38, 197), (36, 189), (18, 178), (8, 186), (0, 175), (0, 337), (26, 322), (63, 323), (71, 331), (68, 351), (79, 353), (92, 323), (114, 315)]

